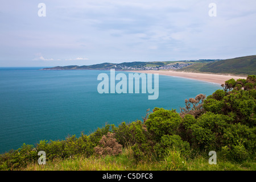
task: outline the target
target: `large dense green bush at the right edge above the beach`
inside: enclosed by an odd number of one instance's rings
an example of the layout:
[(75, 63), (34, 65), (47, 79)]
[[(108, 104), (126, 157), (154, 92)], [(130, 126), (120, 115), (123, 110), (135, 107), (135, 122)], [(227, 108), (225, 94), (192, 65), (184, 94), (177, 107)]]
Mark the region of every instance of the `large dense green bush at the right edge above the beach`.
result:
[[(250, 83), (253, 87), (246, 87)], [(186, 115), (183, 128), (189, 142), (200, 150), (216, 150), (230, 160), (242, 161), (255, 156), (255, 76), (225, 82), (204, 100), (197, 121)], [(240, 86), (241, 85), (241, 86)]]

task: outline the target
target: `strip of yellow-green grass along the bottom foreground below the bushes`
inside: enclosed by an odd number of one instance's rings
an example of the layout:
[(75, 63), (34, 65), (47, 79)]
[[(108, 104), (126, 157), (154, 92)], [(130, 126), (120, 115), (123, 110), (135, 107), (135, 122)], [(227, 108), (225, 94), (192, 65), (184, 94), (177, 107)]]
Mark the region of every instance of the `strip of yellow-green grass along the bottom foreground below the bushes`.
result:
[(256, 163), (232, 163), (217, 159), (217, 164), (210, 165), (208, 158), (197, 156), (185, 158), (179, 151), (171, 150), (163, 160), (148, 158), (138, 162), (130, 147), (123, 148), (118, 156), (76, 156), (69, 159), (55, 159), (46, 165), (28, 164), (22, 171), (255, 171)]

